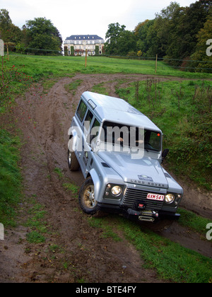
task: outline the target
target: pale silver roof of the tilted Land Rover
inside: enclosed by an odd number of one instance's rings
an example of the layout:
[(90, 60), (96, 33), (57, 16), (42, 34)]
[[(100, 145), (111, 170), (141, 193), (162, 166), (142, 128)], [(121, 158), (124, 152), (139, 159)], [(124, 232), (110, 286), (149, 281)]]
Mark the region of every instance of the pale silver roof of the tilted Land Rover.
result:
[(161, 130), (149, 120), (146, 115), (143, 115), (143, 113), (136, 110), (136, 108), (121, 98), (88, 91), (84, 92), (82, 97), (86, 103), (88, 103), (89, 100), (92, 100), (94, 103), (93, 110), (95, 111), (95, 115), (99, 117), (101, 122), (107, 120), (129, 126), (145, 127), (161, 132)]

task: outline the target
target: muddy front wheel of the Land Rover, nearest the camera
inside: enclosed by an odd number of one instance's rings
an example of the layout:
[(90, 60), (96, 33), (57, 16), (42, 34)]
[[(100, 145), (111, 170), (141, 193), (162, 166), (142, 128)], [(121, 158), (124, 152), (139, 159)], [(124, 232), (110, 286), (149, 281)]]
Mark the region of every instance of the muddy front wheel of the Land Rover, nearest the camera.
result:
[(96, 214), (98, 212), (98, 202), (94, 196), (94, 185), (92, 178), (88, 178), (79, 192), (79, 204), (86, 214)]

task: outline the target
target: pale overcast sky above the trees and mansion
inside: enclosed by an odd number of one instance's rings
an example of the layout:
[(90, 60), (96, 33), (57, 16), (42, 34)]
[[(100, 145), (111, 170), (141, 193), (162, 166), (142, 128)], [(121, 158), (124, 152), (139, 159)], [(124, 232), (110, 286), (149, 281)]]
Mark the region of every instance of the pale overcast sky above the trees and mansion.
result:
[[(172, 0), (174, 1), (174, 0)], [(99, 35), (105, 39), (110, 23), (134, 30), (138, 23), (155, 18), (155, 13), (170, 5), (171, 0), (0, 0), (0, 9), (8, 10), (14, 25), (47, 18), (59, 30), (63, 40), (71, 35)], [(189, 6), (195, 0), (176, 0)]]

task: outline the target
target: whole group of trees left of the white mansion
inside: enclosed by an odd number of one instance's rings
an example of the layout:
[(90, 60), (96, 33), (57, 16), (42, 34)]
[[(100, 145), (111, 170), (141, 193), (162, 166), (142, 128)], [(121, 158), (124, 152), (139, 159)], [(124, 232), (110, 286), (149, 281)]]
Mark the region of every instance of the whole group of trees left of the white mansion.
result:
[(0, 10), (0, 38), (10, 50), (24, 54), (61, 54), (62, 38), (52, 21), (35, 18), (22, 30), (14, 25), (6, 9)]

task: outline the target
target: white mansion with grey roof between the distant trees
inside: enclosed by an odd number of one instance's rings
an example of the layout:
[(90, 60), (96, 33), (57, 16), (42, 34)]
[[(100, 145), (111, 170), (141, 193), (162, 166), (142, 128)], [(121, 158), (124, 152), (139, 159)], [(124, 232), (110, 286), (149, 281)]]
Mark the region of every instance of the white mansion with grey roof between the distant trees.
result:
[(64, 49), (66, 48), (68, 56), (73, 55), (95, 55), (102, 54), (105, 41), (98, 35), (71, 35), (64, 41)]

